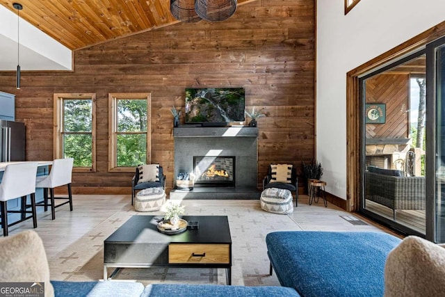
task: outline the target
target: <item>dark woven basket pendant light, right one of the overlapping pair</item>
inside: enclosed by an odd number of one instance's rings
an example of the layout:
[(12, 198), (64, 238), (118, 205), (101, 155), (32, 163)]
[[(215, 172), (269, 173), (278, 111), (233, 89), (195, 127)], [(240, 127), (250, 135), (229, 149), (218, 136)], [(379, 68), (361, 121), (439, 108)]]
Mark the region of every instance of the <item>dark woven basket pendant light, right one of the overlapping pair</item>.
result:
[(236, 0), (196, 0), (196, 14), (209, 22), (220, 22), (232, 17)]

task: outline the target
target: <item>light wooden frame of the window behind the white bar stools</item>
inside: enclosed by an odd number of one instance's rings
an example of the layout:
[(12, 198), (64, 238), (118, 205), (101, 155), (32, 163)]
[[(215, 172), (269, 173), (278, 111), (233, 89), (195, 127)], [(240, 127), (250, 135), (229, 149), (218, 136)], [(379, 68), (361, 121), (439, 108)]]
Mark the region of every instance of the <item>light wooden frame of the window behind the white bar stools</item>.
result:
[(54, 159), (63, 154), (63, 111), (64, 99), (91, 100), (91, 167), (74, 167), (73, 172), (96, 172), (96, 94), (95, 93), (55, 93), (54, 94)]

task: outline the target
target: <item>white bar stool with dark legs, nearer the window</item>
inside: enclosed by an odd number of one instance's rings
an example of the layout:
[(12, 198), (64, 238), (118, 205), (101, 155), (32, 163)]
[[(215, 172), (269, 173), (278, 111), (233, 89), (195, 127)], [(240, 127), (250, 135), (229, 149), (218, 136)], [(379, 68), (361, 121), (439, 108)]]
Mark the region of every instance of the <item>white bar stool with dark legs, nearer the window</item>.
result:
[[(72, 177), (72, 164), (74, 159), (54, 159), (53, 165), (51, 166), (51, 171), (49, 175), (43, 175), (37, 177), (35, 182), (35, 188), (43, 188), (43, 202), (37, 204), (37, 206), (44, 207), (44, 211), (48, 210), (48, 200), (51, 200), (51, 219), (56, 218), (56, 207), (60, 207), (64, 204), (70, 203), (70, 211), (72, 211), (72, 193), (71, 193), (71, 177)], [(54, 197), (54, 188), (58, 186), (68, 187), (68, 198), (65, 197)], [(49, 197), (48, 197), (49, 189)], [(55, 199), (67, 200), (63, 203), (56, 205), (54, 203)]]

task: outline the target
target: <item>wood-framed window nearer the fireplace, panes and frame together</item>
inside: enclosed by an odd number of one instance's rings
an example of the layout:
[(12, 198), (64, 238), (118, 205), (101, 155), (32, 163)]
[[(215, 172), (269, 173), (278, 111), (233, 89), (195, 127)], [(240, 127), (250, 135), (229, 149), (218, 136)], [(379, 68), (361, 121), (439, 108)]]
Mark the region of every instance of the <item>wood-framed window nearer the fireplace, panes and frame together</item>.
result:
[(151, 94), (108, 94), (108, 171), (151, 163)]

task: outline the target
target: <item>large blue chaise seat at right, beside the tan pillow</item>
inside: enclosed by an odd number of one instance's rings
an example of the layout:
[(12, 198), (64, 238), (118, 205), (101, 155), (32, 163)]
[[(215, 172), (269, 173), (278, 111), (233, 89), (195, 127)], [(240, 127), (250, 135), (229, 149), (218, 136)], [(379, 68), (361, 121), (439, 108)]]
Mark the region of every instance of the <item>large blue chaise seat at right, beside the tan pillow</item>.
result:
[(383, 296), (385, 260), (401, 239), (379, 232), (272, 232), (280, 283), (305, 297)]

